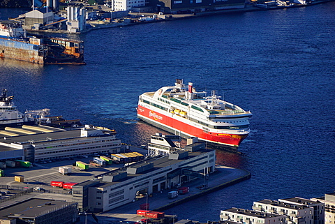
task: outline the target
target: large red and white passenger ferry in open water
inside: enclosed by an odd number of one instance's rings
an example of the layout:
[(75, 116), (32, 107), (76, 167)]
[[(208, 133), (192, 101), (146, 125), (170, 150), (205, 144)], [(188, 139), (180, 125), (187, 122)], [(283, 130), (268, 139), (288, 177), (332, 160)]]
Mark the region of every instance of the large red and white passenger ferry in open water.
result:
[(162, 87), (140, 95), (137, 117), (181, 137), (198, 137), (214, 147), (232, 147), (250, 133), (250, 111), (221, 100), (216, 91), (195, 91), (177, 79), (174, 87)]

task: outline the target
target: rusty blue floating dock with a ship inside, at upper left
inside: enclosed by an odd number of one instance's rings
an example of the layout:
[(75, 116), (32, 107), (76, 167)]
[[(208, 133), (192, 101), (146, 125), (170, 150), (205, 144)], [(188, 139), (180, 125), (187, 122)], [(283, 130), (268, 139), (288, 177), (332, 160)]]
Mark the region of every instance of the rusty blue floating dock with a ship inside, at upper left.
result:
[(0, 22), (0, 58), (34, 64), (86, 64), (81, 40), (27, 36), (22, 24), (13, 21)]

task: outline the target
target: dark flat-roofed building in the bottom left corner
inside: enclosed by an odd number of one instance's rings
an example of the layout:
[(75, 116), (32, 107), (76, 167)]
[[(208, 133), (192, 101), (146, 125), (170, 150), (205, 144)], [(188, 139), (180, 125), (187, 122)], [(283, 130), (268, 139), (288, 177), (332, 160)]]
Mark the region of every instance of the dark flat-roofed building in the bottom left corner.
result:
[(77, 214), (77, 203), (31, 198), (0, 209), (0, 223), (71, 224)]

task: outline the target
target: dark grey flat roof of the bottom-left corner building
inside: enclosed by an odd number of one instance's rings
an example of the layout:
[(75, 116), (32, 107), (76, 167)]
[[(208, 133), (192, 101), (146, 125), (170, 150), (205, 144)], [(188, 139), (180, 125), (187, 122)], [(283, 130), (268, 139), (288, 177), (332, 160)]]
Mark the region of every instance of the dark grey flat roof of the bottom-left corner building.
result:
[(0, 218), (36, 218), (50, 209), (61, 209), (73, 202), (31, 198), (0, 209)]

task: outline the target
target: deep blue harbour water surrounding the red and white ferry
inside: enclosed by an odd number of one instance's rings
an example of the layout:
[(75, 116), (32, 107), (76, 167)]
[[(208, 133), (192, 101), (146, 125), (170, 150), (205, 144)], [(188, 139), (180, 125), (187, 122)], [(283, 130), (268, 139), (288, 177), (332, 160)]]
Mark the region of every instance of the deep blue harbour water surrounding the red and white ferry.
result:
[(251, 110), (242, 154), (216, 152), (251, 179), (165, 211), (217, 221), (221, 209), (335, 190), (334, 11), (333, 1), (91, 31), (79, 36), (87, 66), (1, 59), (0, 87), (22, 112), (47, 107), (133, 145), (161, 131), (137, 120), (138, 96), (176, 78)]

